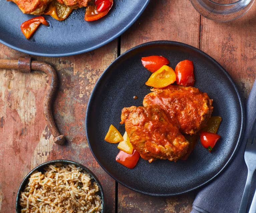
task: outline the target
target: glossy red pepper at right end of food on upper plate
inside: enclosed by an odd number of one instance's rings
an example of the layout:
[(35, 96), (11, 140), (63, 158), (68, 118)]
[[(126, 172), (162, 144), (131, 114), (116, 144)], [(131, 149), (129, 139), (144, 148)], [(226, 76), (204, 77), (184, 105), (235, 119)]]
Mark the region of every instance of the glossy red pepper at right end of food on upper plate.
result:
[(95, 21), (105, 16), (113, 6), (113, 0), (96, 0), (93, 5), (88, 5), (85, 10), (84, 20)]

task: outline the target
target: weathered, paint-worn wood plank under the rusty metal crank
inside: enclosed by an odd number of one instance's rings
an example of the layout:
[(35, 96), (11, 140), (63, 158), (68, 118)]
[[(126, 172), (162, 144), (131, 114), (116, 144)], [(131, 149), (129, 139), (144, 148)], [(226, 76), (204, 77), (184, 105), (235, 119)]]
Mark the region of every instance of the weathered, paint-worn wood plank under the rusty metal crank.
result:
[[(0, 58), (18, 59), (25, 55), (0, 45)], [(0, 70), (1, 211), (14, 212), (16, 191), (33, 167), (48, 160), (69, 159), (82, 163), (98, 176), (105, 192), (106, 212), (114, 212), (115, 181), (90, 152), (85, 135), (85, 112), (97, 79), (117, 57), (116, 48), (117, 42), (113, 41), (101, 49), (77, 56), (33, 57), (51, 64), (57, 71), (59, 86), (52, 109), (59, 131), (67, 138), (64, 146), (53, 142), (43, 115), (47, 75), (40, 71), (24, 74)]]

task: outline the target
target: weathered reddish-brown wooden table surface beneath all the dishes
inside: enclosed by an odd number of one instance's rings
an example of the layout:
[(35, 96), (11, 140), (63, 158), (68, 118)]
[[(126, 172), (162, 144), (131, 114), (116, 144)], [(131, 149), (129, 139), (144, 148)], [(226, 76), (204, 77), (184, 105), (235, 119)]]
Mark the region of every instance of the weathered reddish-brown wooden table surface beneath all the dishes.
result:
[[(152, 0), (132, 27), (103, 47), (68, 57), (32, 56), (57, 71), (58, 92), (52, 110), (59, 131), (66, 136), (64, 146), (53, 142), (43, 115), (47, 75), (41, 71), (24, 74), (1, 69), (0, 212), (15, 212), (17, 189), (32, 168), (49, 160), (69, 159), (98, 176), (107, 213), (189, 213), (196, 192), (175, 197), (143, 195), (116, 183), (99, 166), (85, 136), (88, 98), (99, 76), (118, 54), (144, 42), (173, 40), (199, 48), (217, 60), (246, 99), (256, 76), (255, 26), (255, 4), (243, 17), (218, 23), (201, 17), (189, 0)], [(0, 59), (19, 56), (26, 54), (0, 44)]]

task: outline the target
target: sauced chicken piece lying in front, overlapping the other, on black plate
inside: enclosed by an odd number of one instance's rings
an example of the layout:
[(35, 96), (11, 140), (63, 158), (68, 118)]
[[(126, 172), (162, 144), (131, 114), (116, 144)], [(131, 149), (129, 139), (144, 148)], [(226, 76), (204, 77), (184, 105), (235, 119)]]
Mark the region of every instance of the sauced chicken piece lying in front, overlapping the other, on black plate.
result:
[(134, 149), (149, 162), (177, 161), (187, 153), (189, 142), (157, 105), (123, 108), (120, 124), (123, 123)]

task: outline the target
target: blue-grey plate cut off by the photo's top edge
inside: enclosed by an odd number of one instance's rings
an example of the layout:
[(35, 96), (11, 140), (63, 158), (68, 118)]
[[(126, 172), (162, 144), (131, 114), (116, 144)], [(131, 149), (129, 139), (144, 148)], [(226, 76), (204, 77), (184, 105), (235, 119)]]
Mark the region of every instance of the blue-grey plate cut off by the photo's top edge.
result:
[(49, 27), (40, 26), (27, 40), (22, 22), (35, 17), (23, 14), (16, 4), (1, 0), (0, 42), (13, 49), (39, 56), (75, 55), (101, 47), (121, 35), (142, 14), (150, 0), (114, 0), (109, 13), (92, 22), (84, 21), (85, 8), (74, 10), (64, 21), (45, 16)]

